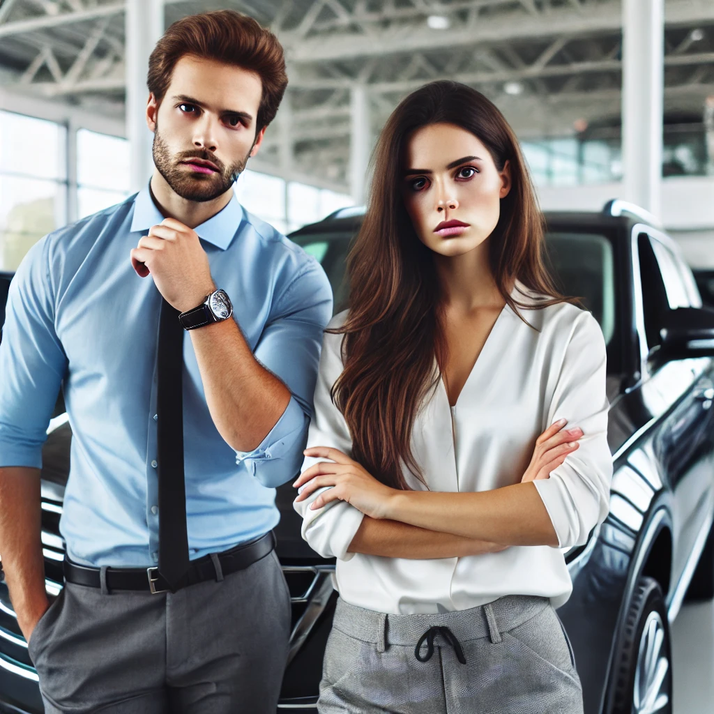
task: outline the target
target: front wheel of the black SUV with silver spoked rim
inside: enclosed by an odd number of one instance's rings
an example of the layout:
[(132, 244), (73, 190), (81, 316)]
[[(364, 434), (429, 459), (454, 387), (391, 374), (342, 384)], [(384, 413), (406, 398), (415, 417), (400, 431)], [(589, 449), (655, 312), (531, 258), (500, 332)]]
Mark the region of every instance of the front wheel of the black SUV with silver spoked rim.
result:
[[(658, 655), (648, 657), (653, 648)], [(654, 578), (640, 576), (635, 585), (617, 661), (611, 714), (672, 714), (670, 630), (662, 588)]]

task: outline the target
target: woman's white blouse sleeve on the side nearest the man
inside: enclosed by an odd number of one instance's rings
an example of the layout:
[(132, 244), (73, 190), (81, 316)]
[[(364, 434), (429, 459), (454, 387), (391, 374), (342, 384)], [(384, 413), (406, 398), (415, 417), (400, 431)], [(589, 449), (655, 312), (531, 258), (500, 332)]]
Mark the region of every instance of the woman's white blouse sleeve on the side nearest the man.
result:
[[(343, 315), (336, 316), (330, 326), (338, 326), (342, 319)], [(325, 335), (315, 388), (315, 416), (310, 423), (307, 445), (331, 446), (351, 456), (352, 439), (347, 423), (330, 396), (332, 386), (343, 369), (341, 344), (341, 335)], [(306, 458), (301, 471), (306, 471), (319, 461), (327, 460)], [(326, 488), (319, 488), (305, 501), (293, 503), (293, 507), (303, 519), (302, 536), (323, 558), (349, 560), (354, 553), (348, 553), (347, 549), (362, 523), (364, 514), (344, 501), (332, 501), (323, 508), (311, 511), (308, 506), (323, 491), (326, 491)]]

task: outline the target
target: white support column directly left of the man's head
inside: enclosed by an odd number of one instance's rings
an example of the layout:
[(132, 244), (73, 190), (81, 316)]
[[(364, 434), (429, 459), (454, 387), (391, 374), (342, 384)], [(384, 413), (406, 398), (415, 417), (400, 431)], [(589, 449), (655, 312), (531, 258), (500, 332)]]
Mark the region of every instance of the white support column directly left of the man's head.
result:
[(146, 126), (146, 73), (149, 55), (164, 34), (164, 0), (126, 0), (126, 138), (129, 139), (129, 190), (141, 191), (154, 171)]

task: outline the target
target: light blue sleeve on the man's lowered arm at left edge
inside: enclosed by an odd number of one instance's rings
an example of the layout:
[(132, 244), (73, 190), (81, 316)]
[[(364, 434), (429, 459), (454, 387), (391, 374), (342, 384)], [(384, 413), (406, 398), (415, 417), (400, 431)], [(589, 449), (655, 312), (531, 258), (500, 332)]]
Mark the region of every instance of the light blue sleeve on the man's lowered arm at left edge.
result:
[(10, 283), (0, 343), (0, 466), (41, 468), (42, 446), (67, 368), (54, 327), (48, 251), (43, 238)]

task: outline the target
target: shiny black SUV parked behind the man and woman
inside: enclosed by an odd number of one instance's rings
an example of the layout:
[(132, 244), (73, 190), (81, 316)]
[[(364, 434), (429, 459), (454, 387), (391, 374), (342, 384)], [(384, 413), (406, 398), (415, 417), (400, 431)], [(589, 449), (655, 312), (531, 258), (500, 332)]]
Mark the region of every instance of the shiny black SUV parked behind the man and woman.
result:
[[(564, 549), (573, 594), (558, 610), (575, 650), (587, 714), (672, 711), (670, 623), (685, 599), (714, 595), (714, 311), (702, 308), (678, 246), (636, 206), (547, 213), (547, 258), (582, 298), (608, 350), (610, 513)], [(345, 258), (362, 211), (346, 208), (291, 239), (321, 261), (344, 307)], [(5, 296), (11, 275), (4, 275)], [(3, 308), (4, 309), (4, 308)], [(4, 314), (0, 313), (0, 321)], [(61, 399), (43, 451), (46, 586), (62, 587), (59, 535), (71, 431)], [(290, 663), (278, 710), (314, 712), (336, 593), (333, 561), (300, 535), (295, 493), (277, 491), (278, 555), (293, 598)], [(0, 712), (41, 712), (37, 675), (0, 582)], [(504, 713), (506, 714), (506, 713)]]

